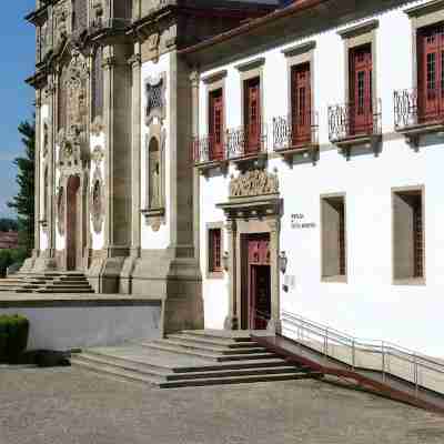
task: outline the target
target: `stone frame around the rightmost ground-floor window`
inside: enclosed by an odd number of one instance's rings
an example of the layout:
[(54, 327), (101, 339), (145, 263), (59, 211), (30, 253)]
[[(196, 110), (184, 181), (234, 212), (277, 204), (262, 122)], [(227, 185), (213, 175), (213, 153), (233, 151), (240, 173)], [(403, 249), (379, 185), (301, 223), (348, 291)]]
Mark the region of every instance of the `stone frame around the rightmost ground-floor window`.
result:
[[(395, 218), (394, 218), (394, 195), (396, 193), (420, 192), (422, 206), (422, 228), (423, 228), (423, 275), (421, 278), (395, 278)], [(425, 256), (425, 185), (393, 186), (391, 189), (391, 218), (392, 218), (392, 285), (425, 285), (426, 284), (426, 256)]]

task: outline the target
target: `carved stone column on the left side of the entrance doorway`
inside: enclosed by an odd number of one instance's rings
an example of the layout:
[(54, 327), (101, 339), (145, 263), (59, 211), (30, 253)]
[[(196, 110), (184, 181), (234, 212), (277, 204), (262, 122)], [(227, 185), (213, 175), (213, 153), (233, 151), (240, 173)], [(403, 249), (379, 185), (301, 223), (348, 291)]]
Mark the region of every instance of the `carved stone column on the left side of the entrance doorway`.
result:
[(234, 219), (229, 219), (225, 224), (225, 230), (229, 236), (229, 315), (224, 322), (225, 330), (238, 330), (238, 287), (236, 287), (236, 240), (238, 226)]

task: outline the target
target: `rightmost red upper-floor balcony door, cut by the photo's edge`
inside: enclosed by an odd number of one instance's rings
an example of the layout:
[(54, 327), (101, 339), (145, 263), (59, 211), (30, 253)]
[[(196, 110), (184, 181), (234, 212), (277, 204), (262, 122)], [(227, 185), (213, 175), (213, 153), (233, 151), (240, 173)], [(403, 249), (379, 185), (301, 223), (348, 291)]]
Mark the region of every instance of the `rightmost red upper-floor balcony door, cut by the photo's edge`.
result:
[(444, 111), (444, 26), (418, 36), (418, 120), (427, 122)]

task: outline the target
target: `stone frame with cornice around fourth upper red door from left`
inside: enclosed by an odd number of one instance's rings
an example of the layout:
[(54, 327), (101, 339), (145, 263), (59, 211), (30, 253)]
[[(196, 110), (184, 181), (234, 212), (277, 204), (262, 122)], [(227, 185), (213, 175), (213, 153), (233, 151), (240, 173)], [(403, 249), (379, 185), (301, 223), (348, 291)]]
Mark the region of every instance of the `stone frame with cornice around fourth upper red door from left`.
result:
[(357, 26), (337, 31), (343, 40), (344, 48), (344, 103), (350, 103), (350, 52), (364, 44), (371, 46), (372, 50), (372, 100), (377, 100), (377, 28), (379, 20), (371, 20)]

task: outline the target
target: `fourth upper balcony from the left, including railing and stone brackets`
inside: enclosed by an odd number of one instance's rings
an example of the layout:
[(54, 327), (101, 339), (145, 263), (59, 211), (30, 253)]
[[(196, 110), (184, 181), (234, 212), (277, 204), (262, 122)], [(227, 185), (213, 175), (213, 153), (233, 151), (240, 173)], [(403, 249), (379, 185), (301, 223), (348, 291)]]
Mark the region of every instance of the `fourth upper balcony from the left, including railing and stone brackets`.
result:
[(381, 138), (380, 99), (329, 107), (329, 139), (347, 159), (357, 145), (371, 148), (377, 155)]

